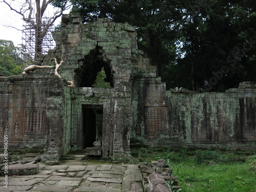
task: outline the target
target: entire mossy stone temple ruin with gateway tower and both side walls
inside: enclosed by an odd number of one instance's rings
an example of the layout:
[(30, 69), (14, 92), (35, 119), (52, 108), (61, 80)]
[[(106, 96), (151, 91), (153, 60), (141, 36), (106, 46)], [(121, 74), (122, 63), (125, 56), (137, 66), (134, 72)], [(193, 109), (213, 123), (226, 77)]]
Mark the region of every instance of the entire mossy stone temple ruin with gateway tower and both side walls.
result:
[[(35, 67), (0, 77), (1, 146), (8, 135), (9, 148), (44, 148), (42, 161), (95, 141), (97, 155), (115, 160), (129, 160), (130, 146), (141, 145), (255, 148), (256, 84), (166, 91), (138, 50), (135, 27), (107, 18), (82, 24), (78, 14), (63, 15), (61, 27)], [(102, 69), (111, 88), (93, 87)]]

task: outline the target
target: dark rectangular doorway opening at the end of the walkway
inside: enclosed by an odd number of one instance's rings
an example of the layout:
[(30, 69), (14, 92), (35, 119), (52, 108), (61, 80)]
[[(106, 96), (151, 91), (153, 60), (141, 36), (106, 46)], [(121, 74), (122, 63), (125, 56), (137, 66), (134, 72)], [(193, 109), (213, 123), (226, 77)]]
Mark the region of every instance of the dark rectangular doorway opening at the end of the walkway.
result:
[(103, 105), (83, 105), (82, 148), (102, 139)]

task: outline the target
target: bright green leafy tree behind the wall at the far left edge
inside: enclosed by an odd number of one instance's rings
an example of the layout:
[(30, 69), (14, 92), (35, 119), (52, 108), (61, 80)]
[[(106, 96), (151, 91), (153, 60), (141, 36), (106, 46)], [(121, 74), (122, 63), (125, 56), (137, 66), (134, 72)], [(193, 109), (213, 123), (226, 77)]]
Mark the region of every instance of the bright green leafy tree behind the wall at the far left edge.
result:
[[(0, 75), (11, 76), (20, 74), (20, 58), (17, 56), (17, 49), (10, 40), (0, 40)], [(19, 63), (20, 64), (20, 63)]]

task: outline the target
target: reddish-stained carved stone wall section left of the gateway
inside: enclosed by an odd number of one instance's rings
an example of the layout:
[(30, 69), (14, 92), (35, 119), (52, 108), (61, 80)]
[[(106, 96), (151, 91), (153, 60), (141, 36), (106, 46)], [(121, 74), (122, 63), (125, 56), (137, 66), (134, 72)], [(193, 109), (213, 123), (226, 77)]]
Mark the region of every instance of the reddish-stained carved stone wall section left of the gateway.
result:
[(46, 141), (47, 79), (1, 77), (0, 87), (1, 127), (4, 127), (0, 137), (8, 134), (12, 147), (43, 147)]

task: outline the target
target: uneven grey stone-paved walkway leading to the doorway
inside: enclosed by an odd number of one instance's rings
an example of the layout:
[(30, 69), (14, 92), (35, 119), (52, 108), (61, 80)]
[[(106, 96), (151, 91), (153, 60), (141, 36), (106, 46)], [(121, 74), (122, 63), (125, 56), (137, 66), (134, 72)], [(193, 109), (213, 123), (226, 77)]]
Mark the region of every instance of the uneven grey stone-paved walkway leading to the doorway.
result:
[(4, 177), (0, 191), (87, 191), (87, 192), (143, 192), (142, 174), (133, 164), (90, 164), (84, 161), (67, 161), (61, 165), (38, 163), (37, 175)]

